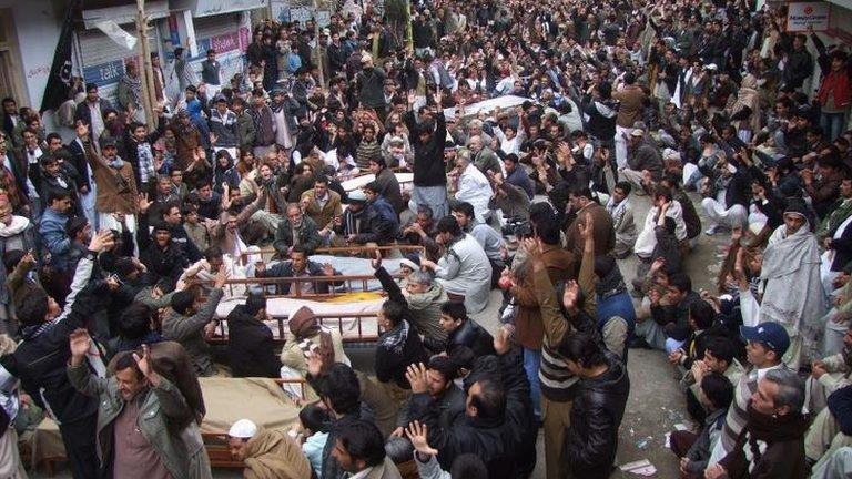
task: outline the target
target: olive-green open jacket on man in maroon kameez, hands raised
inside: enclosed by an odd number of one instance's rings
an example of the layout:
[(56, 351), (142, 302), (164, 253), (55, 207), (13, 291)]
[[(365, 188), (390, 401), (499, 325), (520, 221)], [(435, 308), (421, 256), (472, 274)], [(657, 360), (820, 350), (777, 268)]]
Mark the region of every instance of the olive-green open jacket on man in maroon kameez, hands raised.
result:
[[(98, 457), (103, 461), (112, 455), (112, 422), (124, 409), (118, 380), (114, 376), (106, 379), (92, 376), (85, 363), (77, 367), (69, 366), (68, 377), (80, 393), (97, 396), (100, 400), (95, 446)], [(186, 400), (178, 387), (162, 378), (159, 387), (140, 393), (134, 400), (139, 402), (136, 426), (172, 477), (211, 477), (210, 461), (195, 422), (191, 422), (180, 435), (172, 434), (169, 429), (170, 420), (183, 417), (187, 408)]]

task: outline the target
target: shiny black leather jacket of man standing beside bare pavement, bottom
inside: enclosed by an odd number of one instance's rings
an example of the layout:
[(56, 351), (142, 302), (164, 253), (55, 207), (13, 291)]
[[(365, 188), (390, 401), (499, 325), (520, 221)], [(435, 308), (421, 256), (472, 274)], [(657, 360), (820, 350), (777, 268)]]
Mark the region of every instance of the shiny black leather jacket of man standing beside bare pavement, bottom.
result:
[(566, 437), (571, 472), (584, 478), (608, 478), (618, 450), (618, 427), (625, 416), (630, 378), (621, 363), (608, 356), (609, 370), (581, 379)]

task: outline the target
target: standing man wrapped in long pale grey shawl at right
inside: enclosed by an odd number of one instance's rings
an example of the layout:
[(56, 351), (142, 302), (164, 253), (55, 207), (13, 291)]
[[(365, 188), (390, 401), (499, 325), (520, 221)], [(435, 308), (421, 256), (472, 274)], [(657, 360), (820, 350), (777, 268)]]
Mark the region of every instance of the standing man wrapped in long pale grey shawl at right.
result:
[(784, 224), (769, 237), (760, 279), (763, 300), (758, 322), (784, 326), (790, 335), (784, 363), (799, 370), (802, 353), (812, 349), (821, 337), (821, 319), (828, 308), (820, 283), (820, 247), (803, 202), (790, 202)]

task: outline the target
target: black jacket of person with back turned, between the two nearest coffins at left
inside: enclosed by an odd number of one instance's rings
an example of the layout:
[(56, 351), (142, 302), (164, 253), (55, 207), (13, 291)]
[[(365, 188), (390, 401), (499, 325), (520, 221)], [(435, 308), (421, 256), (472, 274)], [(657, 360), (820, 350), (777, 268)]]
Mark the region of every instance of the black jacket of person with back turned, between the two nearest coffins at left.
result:
[(272, 330), (237, 305), (227, 315), (227, 354), (234, 377), (278, 377)]

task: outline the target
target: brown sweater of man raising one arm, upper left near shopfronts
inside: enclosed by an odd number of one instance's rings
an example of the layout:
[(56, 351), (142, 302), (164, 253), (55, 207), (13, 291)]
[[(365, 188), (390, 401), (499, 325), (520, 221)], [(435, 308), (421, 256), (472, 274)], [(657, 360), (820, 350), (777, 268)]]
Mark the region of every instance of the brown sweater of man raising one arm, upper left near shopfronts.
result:
[(85, 156), (92, 166), (94, 181), (98, 183), (98, 197), (94, 208), (99, 213), (136, 213), (136, 180), (133, 165), (124, 161), (121, 167), (110, 166), (90, 142), (85, 142)]

